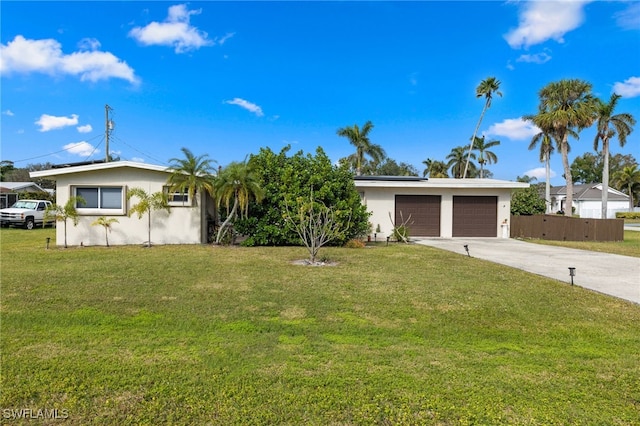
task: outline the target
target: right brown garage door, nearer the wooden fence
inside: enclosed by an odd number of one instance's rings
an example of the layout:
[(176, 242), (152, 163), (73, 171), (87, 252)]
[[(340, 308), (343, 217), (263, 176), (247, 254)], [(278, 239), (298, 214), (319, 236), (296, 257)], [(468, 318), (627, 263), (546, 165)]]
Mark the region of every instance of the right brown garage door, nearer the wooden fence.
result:
[(496, 237), (498, 197), (453, 197), (454, 237)]

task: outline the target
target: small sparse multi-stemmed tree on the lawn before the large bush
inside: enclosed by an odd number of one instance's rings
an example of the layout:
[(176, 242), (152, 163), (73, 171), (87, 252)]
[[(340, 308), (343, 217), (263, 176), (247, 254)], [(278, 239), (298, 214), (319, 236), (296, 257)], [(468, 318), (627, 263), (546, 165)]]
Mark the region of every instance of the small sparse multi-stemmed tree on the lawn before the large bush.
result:
[(320, 248), (342, 237), (350, 223), (350, 220), (338, 220), (338, 212), (315, 201), (313, 193), (308, 202), (299, 205), (296, 214), (292, 214), (286, 206), (284, 216), (307, 248), (311, 264), (316, 262)]

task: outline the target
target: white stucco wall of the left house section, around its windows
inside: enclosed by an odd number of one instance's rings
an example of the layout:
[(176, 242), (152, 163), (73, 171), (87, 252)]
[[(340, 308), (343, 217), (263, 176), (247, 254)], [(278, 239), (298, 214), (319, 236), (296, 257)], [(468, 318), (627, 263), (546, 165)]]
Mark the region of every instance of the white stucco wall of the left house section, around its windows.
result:
[[(56, 176), (56, 203), (64, 205), (73, 195), (74, 186), (124, 186), (124, 191), (140, 187), (147, 193), (162, 191), (166, 185), (166, 172), (142, 170), (130, 167), (107, 170), (86, 171)], [(78, 226), (67, 223), (67, 243), (69, 245), (85, 246), (105, 245), (105, 232), (102, 226), (92, 226), (91, 223), (100, 216), (113, 217), (118, 223), (112, 225), (109, 233), (109, 244), (142, 244), (148, 240), (148, 217), (146, 214), (138, 219), (137, 214), (128, 217), (131, 206), (137, 204), (138, 199), (125, 199), (125, 212), (115, 215), (90, 214), (80, 212)], [(200, 204), (200, 200), (199, 200)], [(197, 206), (172, 206), (170, 213), (164, 210), (151, 212), (151, 242), (152, 244), (199, 244), (202, 241), (201, 212)], [(64, 244), (64, 224), (58, 222), (56, 230), (57, 245)]]

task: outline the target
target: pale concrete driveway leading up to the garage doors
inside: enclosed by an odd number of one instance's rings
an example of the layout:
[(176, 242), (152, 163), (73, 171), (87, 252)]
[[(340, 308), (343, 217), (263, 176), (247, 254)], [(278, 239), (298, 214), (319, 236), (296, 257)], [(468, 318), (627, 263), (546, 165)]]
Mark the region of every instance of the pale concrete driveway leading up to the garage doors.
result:
[(512, 238), (420, 238), (423, 244), (522, 269), (640, 304), (640, 258), (527, 243)]

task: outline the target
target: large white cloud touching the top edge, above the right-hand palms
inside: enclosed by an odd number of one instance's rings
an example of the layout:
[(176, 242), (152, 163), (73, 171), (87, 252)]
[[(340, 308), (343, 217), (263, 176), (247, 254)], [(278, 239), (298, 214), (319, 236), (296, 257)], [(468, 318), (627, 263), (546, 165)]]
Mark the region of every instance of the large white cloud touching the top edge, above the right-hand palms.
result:
[(514, 49), (553, 39), (564, 42), (564, 35), (584, 21), (584, 6), (591, 0), (536, 0), (523, 3), (518, 28), (504, 38)]

